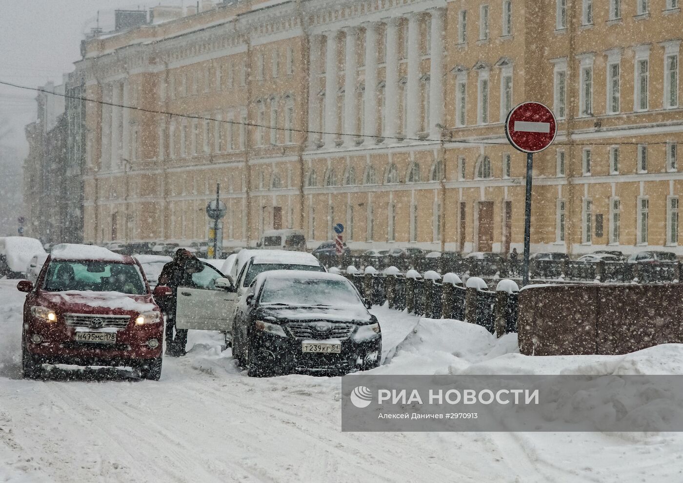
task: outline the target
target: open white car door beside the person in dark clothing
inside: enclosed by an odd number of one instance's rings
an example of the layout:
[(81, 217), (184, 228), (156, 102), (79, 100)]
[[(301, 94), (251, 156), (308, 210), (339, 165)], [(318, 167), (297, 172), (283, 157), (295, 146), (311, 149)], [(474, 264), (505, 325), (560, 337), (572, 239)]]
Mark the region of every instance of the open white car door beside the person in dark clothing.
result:
[(188, 283), (178, 287), (176, 327), (230, 332), (237, 293), (216, 287), (216, 280), (225, 278), (217, 269), (207, 263), (201, 267), (201, 272), (186, 274)]

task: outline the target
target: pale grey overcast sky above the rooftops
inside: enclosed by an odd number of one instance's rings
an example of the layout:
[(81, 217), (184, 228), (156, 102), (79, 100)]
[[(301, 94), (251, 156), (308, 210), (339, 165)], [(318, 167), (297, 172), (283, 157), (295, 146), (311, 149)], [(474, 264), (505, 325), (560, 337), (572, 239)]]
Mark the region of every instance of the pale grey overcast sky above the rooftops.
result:
[[(96, 26), (113, 28), (115, 8), (190, 5), (190, 0), (0, 0), (0, 81), (30, 87), (47, 81), (61, 84), (80, 58), (83, 33)], [(36, 119), (36, 93), (0, 85), (0, 126), (8, 119), (12, 132), (0, 144), (27, 153), (24, 126)], [(0, 134), (3, 129), (0, 127)]]

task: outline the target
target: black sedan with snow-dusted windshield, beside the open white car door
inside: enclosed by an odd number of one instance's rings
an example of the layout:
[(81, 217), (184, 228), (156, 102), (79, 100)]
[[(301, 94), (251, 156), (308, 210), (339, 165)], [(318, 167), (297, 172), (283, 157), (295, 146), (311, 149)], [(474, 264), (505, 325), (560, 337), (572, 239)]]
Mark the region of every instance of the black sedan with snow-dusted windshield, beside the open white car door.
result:
[(382, 332), (357, 289), (335, 274), (259, 274), (234, 326), (233, 357), (249, 376), (375, 368)]

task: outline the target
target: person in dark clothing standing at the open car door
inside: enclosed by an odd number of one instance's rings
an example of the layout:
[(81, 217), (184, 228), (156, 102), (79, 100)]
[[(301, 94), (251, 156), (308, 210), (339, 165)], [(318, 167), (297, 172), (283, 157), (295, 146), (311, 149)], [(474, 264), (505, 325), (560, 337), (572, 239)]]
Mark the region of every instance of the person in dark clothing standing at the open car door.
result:
[(157, 282), (171, 289), (171, 295), (161, 297), (157, 302), (166, 315), (166, 355), (180, 357), (185, 355), (187, 329), (176, 328), (176, 303), (178, 287), (192, 287), (192, 274), (201, 272), (201, 262), (191, 252), (178, 248), (173, 260), (164, 265)]

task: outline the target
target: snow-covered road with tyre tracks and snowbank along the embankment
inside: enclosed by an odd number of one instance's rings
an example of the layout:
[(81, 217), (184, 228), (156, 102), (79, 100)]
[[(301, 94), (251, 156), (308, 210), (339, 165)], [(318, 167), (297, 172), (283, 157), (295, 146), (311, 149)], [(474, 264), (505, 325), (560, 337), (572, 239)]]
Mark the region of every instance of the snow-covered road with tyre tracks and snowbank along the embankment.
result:
[[(0, 280), (0, 482), (683, 480), (683, 437), (669, 433), (342, 433), (339, 378), (248, 378), (208, 332), (191, 332), (191, 351), (165, 359), (158, 382), (115, 370), (24, 381), (15, 284)], [(673, 345), (643, 357), (531, 358), (515, 353), (514, 336), (375, 313), (393, 355), (376, 369), (385, 373), (683, 373)]]

